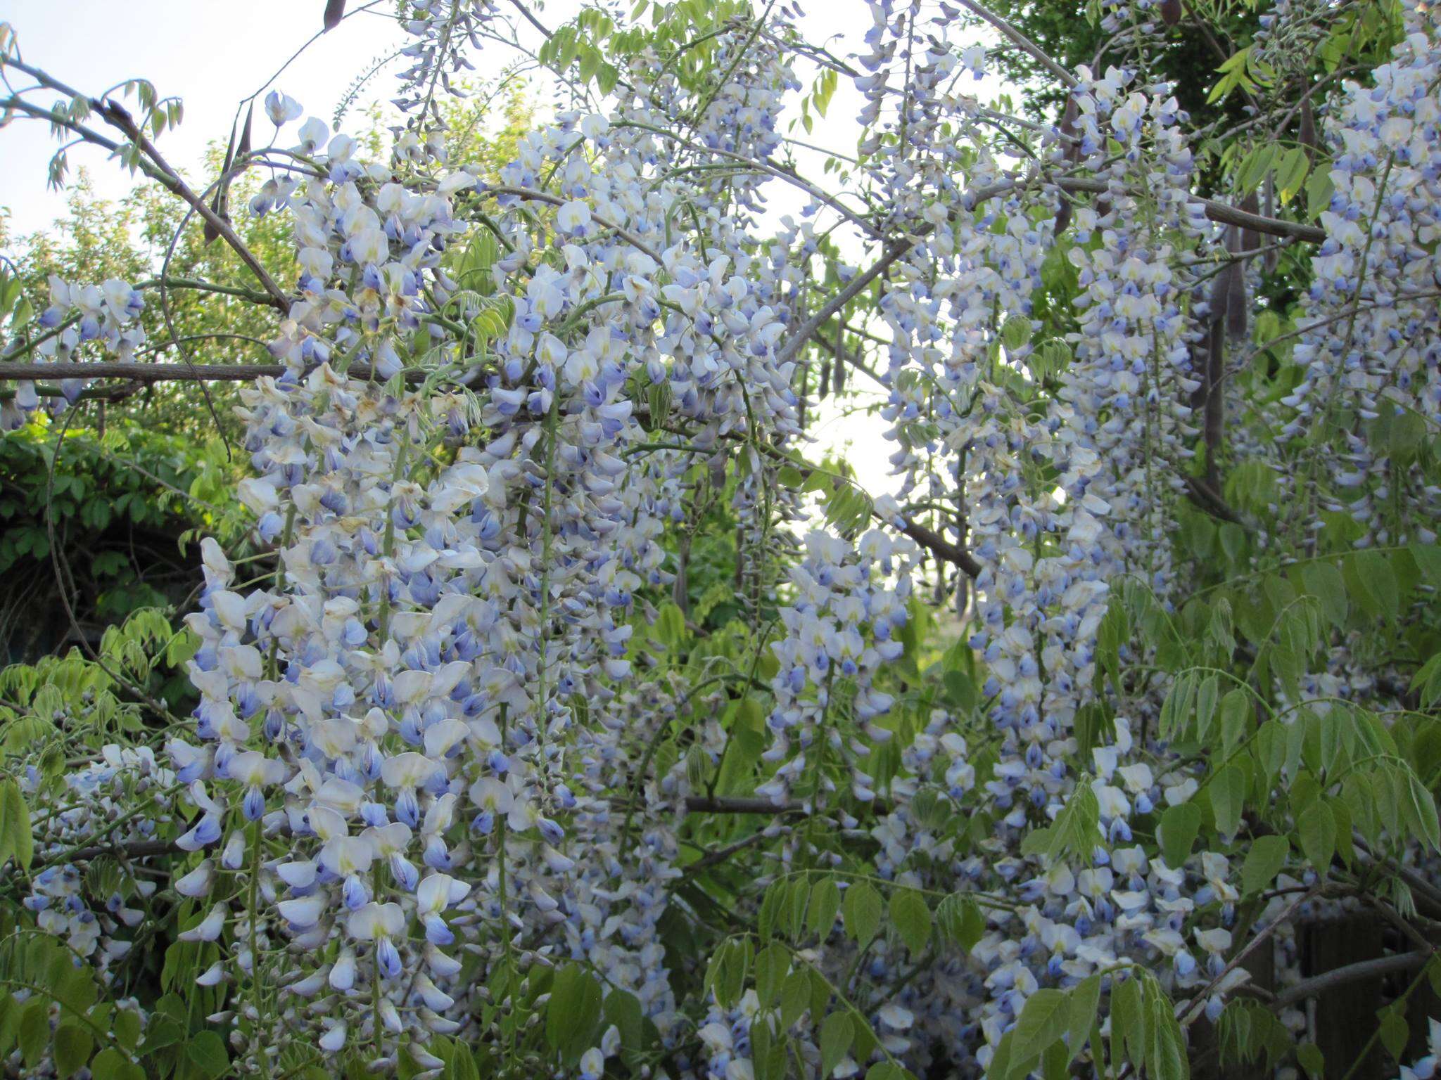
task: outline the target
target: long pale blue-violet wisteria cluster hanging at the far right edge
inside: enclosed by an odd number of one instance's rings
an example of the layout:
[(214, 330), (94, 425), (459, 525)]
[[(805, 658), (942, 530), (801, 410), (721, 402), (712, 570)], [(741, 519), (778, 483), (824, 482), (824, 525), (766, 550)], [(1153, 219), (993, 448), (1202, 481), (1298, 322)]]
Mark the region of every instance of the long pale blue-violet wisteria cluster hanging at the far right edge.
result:
[(1323, 125), (1333, 194), (1294, 348), (1304, 377), (1285, 399), (1297, 441), (1342, 413), (1359, 419), (1344, 441), (1298, 448), (1293, 523), (1316, 508), (1349, 514), (1372, 544), (1429, 543), (1435, 530), (1424, 523), (1438, 511), (1435, 490), (1406, 478), (1428, 426), (1441, 423), (1432, 252), (1441, 50), (1411, 29), (1372, 86), (1347, 81)]

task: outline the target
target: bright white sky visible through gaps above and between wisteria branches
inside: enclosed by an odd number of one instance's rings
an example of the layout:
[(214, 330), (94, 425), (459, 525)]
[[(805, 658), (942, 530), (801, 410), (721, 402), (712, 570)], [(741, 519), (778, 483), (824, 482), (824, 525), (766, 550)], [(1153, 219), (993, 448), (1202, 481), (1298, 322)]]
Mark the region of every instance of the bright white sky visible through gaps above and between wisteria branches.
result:
[[(352, 0), (359, 9), (363, 0)], [(533, 10), (548, 26), (559, 26), (574, 16), (576, 0), (552, 0)], [(43, 68), (79, 91), (95, 94), (127, 78), (150, 79), (161, 96), (179, 95), (184, 101), (184, 121), (179, 130), (160, 140), (160, 150), (171, 164), (195, 168), (209, 143), (225, 143), (236, 102), (255, 92), (320, 29), (323, 0), (4, 0), (0, 17), (9, 22), (26, 62)], [(352, 82), (379, 60), (392, 55), (406, 40), (386, 0), (375, 12), (357, 12), (336, 30), (310, 45), (277, 81), (275, 86), (300, 101), (307, 115), (326, 120), (334, 112)], [(829, 45), (844, 56), (860, 46), (870, 24), (862, 0), (811, 0), (800, 29), (813, 43)], [(525, 27), (529, 32), (530, 27)], [(539, 45), (539, 33), (530, 35)], [(529, 40), (525, 35), (522, 40)], [(491, 46), (501, 50), (500, 46)], [(513, 56), (507, 52), (501, 62)], [(480, 73), (488, 65), (473, 58)], [(499, 63), (496, 65), (499, 66)], [(393, 91), (395, 65), (376, 75), (357, 99), (354, 115), (373, 101), (385, 101)], [(803, 82), (811, 72), (803, 69)], [(539, 78), (539, 76), (537, 76)], [(19, 88), (19, 84), (16, 84)], [(537, 85), (537, 98), (548, 99), (548, 88)], [(43, 98), (42, 98), (43, 101)], [(855, 117), (860, 98), (842, 79), (829, 115), (817, 118), (806, 135), (800, 125), (795, 135), (840, 151), (853, 151)], [(258, 120), (258, 122), (264, 122)], [(65, 196), (48, 192), (46, 166), (56, 143), (48, 125), (17, 121), (0, 131), (0, 207), (10, 216), (17, 233), (53, 228), (65, 209)], [(821, 157), (798, 153), (803, 173), (820, 179)], [(79, 148), (71, 154), (71, 171), (85, 164), (97, 189), (110, 197), (124, 194), (133, 179), (102, 151)], [(772, 212), (777, 217), (795, 212), (803, 197), (785, 184), (771, 184)], [(856, 372), (855, 389), (872, 386)], [(870, 494), (892, 491), (886, 458), (893, 444), (880, 438), (883, 423), (867, 416), (839, 416), (833, 399), (823, 405), (813, 426), (817, 449), (842, 449), (857, 471), (860, 484)]]

